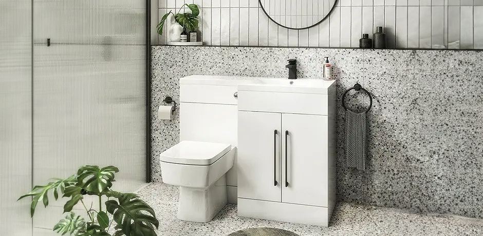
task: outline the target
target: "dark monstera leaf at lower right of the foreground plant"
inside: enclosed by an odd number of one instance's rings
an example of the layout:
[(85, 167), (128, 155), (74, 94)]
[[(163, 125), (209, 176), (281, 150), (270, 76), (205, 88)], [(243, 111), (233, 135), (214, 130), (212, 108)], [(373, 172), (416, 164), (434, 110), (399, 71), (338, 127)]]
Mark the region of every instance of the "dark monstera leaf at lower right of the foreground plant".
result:
[(118, 224), (116, 228), (120, 229), (114, 235), (156, 235), (153, 226), (158, 228), (159, 222), (153, 208), (138, 199), (134, 193), (121, 193), (118, 201), (119, 203), (116, 200), (106, 202), (107, 211), (114, 215), (114, 221)]

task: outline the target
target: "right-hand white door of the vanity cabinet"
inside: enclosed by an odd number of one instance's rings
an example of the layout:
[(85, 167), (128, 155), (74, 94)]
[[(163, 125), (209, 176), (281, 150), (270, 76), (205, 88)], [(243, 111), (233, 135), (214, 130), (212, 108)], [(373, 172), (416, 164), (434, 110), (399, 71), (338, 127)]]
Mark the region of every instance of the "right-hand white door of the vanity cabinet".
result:
[(282, 114), (282, 131), (282, 202), (327, 207), (327, 116)]

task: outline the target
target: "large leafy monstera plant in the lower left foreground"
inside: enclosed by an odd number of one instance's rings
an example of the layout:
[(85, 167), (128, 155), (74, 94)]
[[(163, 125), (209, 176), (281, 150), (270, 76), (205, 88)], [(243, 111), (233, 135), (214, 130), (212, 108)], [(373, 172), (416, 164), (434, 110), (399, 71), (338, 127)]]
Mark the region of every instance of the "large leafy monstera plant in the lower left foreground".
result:
[[(77, 174), (67, 179), (51, 179), (46, 185), (35, 186), (31, 192), (18, 200), (32, 197), (30, 215), (33, 217), (39, 202), (45, 207), (49, 205), (48, 194), (53, 192), (55, 200), (61, 196), (69, 198), (64, 205), (65, 218), (57, 223), (53, 230), (62, 235), (75, 236), (156, 236), (155, 227), (159, 222), (151, 206), (139, 199), (134, 193), (121, 193), (110, 189), (113, 186), (114, 174), (119, 172), (115, 166), (83, 166)], [(85, 195), (98, 196), (97, 206), (84, 204)], [(103, 196), (108, 201), (104, 203)], [(17, 200), (17, 201), (18, 201)], [(89, 219), (72, 212), (72, 208), (81, 204)], [(94, 205), (94, 204), (93, 204)], [(112, 217), (109, 217), (109, 214)], [(115, 223), (115, 224), (114, 224)], [(110, 234), (114, 231), (114, 234)]]

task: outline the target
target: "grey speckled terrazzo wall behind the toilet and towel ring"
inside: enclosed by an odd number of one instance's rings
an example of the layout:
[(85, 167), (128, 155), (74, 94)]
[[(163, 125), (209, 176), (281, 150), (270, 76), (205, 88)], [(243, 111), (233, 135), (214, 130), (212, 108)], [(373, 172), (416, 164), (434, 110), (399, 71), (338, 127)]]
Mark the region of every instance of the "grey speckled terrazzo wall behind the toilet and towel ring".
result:
[[(153, 47), (153, 180), (158, 155), (179, 140), (179, 117), (159, 121), (166, 95), (191, 74), (320, 78), (329, 56), (338, 80), (338, 200), (483, 218), (483, 51), (263, 47)], [(342, 93), (359, 82), (373, 95), (367, 169), (348, 169)], [(368, 99), (351, 91), (350, 109)], [(182, 107), (180, 107), (182, 109)], [(178, 114), (178, 113), (177, 113)]]

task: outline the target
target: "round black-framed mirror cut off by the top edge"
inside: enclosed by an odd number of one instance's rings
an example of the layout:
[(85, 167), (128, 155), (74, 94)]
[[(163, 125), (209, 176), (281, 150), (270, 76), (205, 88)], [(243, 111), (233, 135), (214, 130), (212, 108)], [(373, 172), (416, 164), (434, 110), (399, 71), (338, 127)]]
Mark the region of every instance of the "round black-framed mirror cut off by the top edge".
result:
[(288, 29), (308, 29), (323, 22), (338, 0), (258, 0), (275, 24)]

